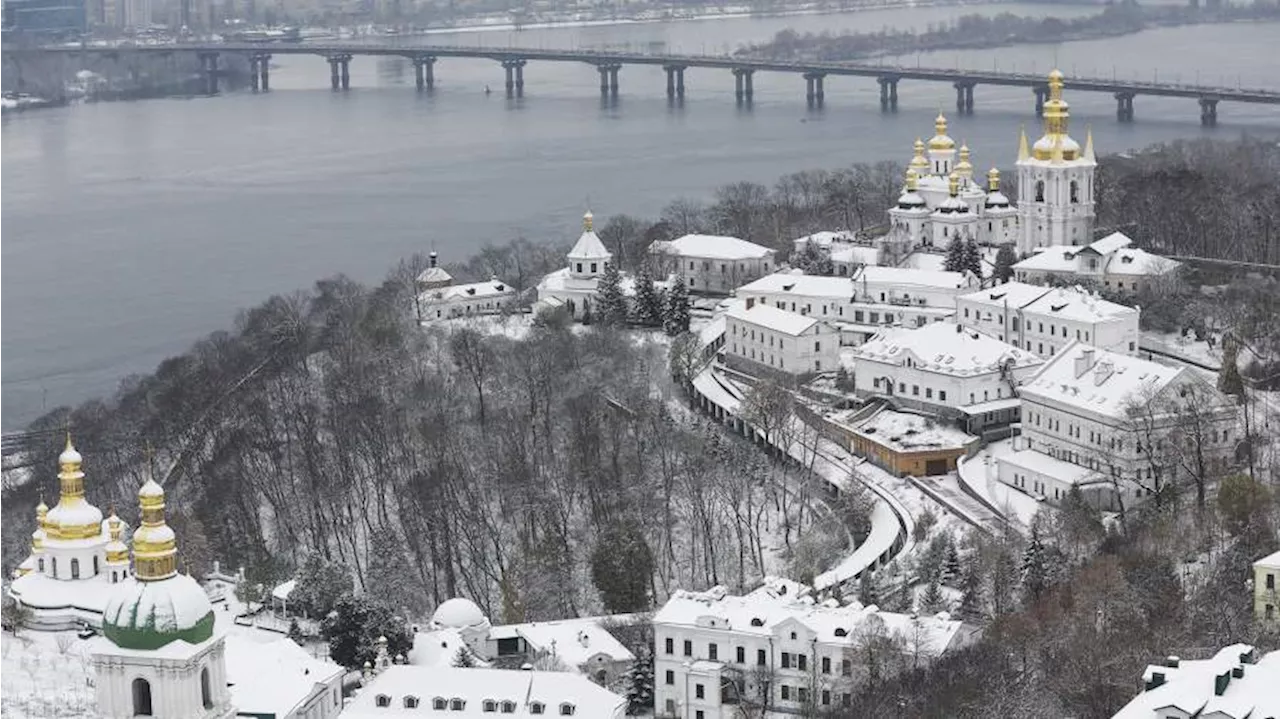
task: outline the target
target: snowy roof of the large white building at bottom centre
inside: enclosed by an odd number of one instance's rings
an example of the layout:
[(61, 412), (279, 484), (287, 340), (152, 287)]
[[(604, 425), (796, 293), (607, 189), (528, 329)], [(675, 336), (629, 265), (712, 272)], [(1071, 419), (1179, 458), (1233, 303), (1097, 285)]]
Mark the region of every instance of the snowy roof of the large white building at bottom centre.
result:
[(845, 606), (817, 604), (810, 596), (769, 596), (753, 592), (730, 595), (724, 587), (703, 592), (677, 590), (654, 614), (654, 626), (713, 627), (724, 631), (774, 636), (796, 624), (805, 627), (819, 644), (855, 646), (868, 632), (890, 636), (916, 636), (920, 651), (937, 656), (946, 651), (960, 632), (961, 622), (946, 613), (937, 617), (913, 618), (908, 614), (879, 612), (876, 606), (852, 603)]

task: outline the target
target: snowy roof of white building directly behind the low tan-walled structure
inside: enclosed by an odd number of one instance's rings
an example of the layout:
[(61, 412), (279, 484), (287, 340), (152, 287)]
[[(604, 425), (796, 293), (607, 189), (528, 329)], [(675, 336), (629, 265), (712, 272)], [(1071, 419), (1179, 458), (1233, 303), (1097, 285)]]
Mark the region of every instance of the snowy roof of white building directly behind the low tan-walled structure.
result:
[(858, 361), (902, 365), (908, 357), (916, 368), (943, 375), (966, 376), (998, 372), (1043, 362), (1036, 354), (954, 322), (931, 322), (922, 328), (892, 328), (856, 347)]

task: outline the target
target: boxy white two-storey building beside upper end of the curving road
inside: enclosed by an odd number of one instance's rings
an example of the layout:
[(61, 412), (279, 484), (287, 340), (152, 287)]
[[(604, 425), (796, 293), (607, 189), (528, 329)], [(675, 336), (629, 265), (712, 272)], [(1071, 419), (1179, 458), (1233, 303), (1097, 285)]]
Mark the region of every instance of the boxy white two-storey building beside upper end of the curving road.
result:
[(835, 371), (840, 362), (840, 330), (751, 299), (726, 312), (724, 351), (731, 357), (787, 372)]

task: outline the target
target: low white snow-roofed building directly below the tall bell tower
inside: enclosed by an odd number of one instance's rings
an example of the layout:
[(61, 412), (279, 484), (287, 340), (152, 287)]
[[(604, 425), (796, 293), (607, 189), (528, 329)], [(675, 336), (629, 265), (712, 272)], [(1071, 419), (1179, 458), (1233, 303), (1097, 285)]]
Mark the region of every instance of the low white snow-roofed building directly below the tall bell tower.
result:
[(1085, 281), (1116, 292), (1138, 292), (1148, 283), (1176, 275), (1181, 264), (1130, 247), (1123, 233), (1085, 244), (1036, 249), (1014, 265), (1014, 278), (1024, 283)]

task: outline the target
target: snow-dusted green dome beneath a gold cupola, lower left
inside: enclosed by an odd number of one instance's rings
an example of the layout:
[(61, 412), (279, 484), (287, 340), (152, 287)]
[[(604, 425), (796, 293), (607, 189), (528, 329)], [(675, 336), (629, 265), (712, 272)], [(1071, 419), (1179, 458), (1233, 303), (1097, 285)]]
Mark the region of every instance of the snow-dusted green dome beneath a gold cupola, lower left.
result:
[(200, 644), (214, 633), (214, 608), (196, 580), (129, 577), (116, 585), (102, 612), (102, 635), (122, 649), (155, 650), (174, 640)]

